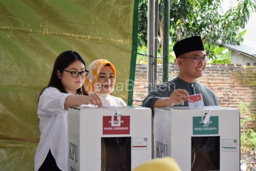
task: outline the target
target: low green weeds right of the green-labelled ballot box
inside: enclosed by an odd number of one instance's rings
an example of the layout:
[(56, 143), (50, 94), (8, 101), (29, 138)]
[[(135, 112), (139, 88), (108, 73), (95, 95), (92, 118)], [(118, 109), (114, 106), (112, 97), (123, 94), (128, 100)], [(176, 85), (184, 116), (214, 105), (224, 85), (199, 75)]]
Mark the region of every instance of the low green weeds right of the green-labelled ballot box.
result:
[[(240, 144), (241, 144), (241, 155), (253, 155), (254, 150), (256, 149), (256, 133), (252, 129), (247, 131), (244, 128), (246, 122), (254, 120), (255, 117), (252, 117), (248, 109), (248, 104), (242, 101), (239, 102), (240, 108), (240, 126), (243, 132), (240, 135)], [(245, 116), (246, 115), (246, 116)]]

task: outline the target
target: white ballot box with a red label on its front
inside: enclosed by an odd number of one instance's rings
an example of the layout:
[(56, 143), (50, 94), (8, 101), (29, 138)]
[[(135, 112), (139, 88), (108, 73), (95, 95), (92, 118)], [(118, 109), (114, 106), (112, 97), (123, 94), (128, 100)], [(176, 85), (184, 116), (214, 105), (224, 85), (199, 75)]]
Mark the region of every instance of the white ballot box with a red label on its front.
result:
[(74, 107), (68, 115), (68, 168), (132, 170), (152, 159), (152, 111)]

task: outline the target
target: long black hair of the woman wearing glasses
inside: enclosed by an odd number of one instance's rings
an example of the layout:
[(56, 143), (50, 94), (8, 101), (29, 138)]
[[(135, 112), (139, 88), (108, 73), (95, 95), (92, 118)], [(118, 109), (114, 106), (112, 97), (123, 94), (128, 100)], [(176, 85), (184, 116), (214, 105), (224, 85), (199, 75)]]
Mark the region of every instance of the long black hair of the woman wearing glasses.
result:
[[(42, 92), (48, 88), (48, 87), (54, 87), (58, 89), (61, 93), (68, 93), (61, 82), (61, 80), (58, 78), (57, 71), (62, 74), (63, 70), (71, 65), (74, 61), (79, 60), (83, 63), (84, 67), (86, 67), (86, 62), (82, 59), (82, 57), (75, 51), (65, 51), (59, 54), (57, 59), (55, 60), (52, 76), (50, 79), (50, 82), (47, 87), (42, 89), (40, 95)], [(86, 88), (84, 86), (81, 87), (81, 89), (77, 90), (77, 93), (80, 95), (88, 95)], [(40, 96), (39, 96), (40, 97)]]

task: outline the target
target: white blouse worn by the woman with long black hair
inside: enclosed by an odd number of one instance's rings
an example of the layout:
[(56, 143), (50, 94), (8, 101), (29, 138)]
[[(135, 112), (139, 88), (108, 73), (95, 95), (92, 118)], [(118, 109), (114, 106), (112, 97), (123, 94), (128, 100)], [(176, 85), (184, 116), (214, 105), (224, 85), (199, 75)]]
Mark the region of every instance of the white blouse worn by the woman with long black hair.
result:
[(35, 154), (35, 170), (44, 162), (49, 149), (57, 166), (68, 170), (68, 111), (64, 104), (70, 95), (49, 87), (39, 98), (37, 114), (41, 136)]

